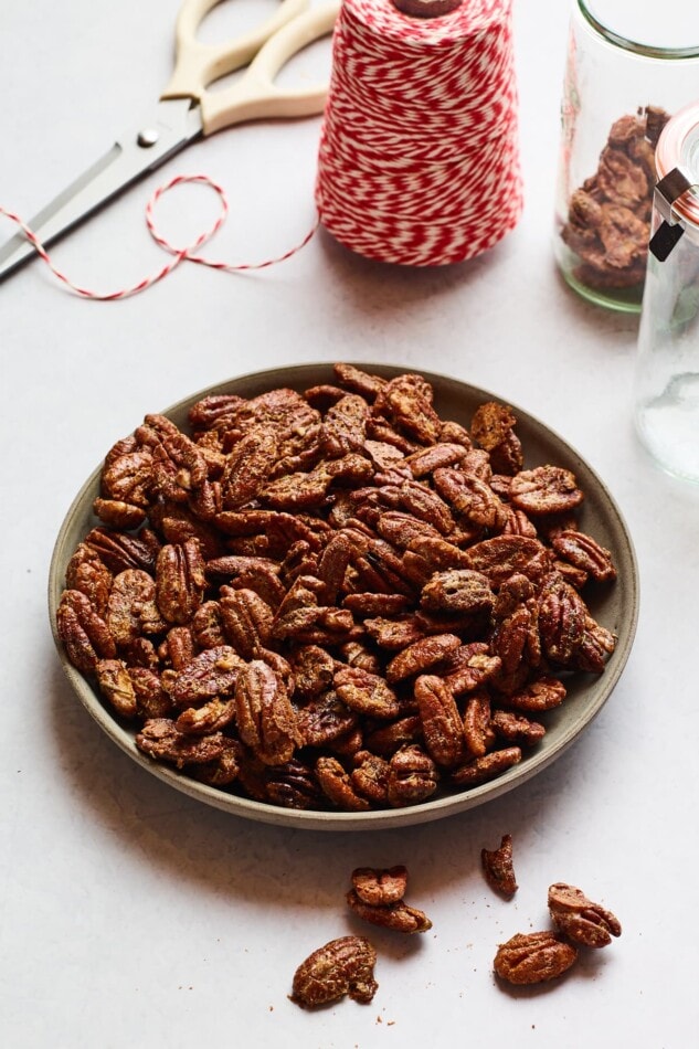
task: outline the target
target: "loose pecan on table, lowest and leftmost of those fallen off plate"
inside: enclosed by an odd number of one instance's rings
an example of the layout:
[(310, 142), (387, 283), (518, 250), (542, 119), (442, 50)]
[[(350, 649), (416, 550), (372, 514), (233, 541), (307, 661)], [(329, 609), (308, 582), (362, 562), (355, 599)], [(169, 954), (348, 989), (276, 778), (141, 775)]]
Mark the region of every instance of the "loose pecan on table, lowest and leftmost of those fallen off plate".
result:
[(304, 1009), (349, 995), (367, 1005), (377, 993), (377, 952), (362, 936), (340, 936), (318, 947), (294, 973), (290, 999)]

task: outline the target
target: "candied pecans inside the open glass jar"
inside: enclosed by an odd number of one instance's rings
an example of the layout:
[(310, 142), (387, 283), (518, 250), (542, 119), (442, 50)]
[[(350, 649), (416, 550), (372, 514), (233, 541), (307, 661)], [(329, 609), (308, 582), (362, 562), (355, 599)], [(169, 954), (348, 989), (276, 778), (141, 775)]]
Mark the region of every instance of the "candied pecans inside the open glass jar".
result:
[(648, 106), (616, 120), (597, 170), (571, 195), (561, 236), (579, 256), (574, 275), (586, 287), (643, 289), (655, 148), (668, 119), (664, 109)]

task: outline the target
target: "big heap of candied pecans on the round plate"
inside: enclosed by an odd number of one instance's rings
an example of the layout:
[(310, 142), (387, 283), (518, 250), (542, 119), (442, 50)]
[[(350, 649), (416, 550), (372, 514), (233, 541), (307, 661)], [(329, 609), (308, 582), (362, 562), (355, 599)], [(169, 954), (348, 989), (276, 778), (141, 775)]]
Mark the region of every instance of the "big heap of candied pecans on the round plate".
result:
[[(520, 761), (614, 636), (575, 477), (523, 468), (491, 402), (442, 420), (419, 374), (206, 396), (104, 462), (56, 624), (136, 745), (230, 793), (362, 813)], [(539, 720), (543, 717), (543, 721)]]

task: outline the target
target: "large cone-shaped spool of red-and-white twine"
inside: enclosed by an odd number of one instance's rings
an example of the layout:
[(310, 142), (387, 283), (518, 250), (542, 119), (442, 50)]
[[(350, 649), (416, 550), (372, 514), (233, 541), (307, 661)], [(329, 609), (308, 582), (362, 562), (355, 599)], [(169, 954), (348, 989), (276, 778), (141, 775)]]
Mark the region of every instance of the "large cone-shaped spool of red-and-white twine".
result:
[(316, 203), (321, 225), (368, 258), (462, 262), (521, 214), (511, 0), (454, 2), (340, 9)]

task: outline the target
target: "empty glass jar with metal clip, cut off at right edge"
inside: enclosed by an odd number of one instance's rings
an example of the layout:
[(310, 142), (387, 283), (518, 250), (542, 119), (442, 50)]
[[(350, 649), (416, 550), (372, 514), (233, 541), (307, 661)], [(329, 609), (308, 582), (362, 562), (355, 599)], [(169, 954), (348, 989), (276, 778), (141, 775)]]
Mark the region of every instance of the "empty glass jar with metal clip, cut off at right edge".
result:
[(699, 102), (665, 127), (656, 167), (636, 428), (664, 469), (699, 481)]

